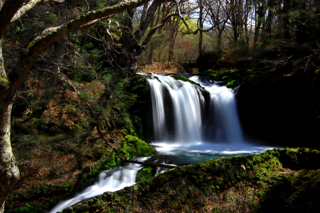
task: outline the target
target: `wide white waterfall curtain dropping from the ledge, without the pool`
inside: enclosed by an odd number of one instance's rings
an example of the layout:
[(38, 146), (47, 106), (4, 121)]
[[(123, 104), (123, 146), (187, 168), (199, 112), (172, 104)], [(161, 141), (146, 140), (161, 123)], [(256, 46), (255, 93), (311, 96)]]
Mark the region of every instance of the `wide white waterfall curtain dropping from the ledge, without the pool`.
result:
[(148, 77), (153, 141), (244, 142), (232, 89), (199, 76), (190, 80), (203, 88), (171, 76), (153, 74)]

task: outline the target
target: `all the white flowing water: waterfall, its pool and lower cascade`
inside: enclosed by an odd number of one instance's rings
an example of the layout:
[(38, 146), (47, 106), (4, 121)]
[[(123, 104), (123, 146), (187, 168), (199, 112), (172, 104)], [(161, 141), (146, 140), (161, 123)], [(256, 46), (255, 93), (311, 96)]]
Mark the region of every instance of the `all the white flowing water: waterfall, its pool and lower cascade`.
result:
[[(174, 164), (259, 154), (272, 147), (244, 141), (232, 89), (198, 76), (190, 77), (204, 89), (166, 75), (146, 75), (150, 87), (153, 142), (158, 154), (175, 156)], [(146, 160), (140, 158), (139, 161)], [(103, 171), (98, 182), (76, 197), (60, 202), (49, 213), (84, 199), (135, 184), (139, 164)]]

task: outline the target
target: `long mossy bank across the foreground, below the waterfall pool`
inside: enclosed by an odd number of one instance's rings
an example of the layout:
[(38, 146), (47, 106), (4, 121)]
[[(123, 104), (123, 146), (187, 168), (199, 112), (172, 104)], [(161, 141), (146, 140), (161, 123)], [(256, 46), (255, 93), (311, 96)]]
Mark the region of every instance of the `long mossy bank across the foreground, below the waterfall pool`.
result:
[(320, 155), (308, 148), (178, 167), (63, 212), (316, 212)]

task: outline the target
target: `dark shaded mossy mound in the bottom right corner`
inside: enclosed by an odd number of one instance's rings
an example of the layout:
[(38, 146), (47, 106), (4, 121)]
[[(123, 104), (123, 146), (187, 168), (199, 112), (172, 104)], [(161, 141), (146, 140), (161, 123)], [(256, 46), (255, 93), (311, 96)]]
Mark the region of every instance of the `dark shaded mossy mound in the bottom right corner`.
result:
[(319, 176), (320, 170), (300, 170), (271, 177), (258, 212), (317, 212)]

